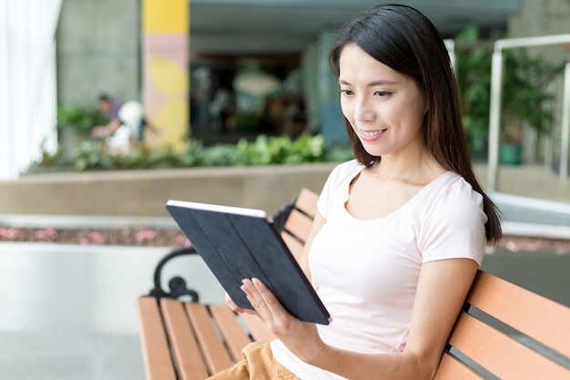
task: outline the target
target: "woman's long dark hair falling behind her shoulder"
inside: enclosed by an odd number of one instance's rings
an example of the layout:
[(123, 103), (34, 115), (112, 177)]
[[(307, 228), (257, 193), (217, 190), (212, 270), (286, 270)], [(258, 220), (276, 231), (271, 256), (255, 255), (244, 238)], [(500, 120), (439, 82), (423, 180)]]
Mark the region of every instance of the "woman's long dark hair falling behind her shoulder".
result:
[[(483, 196), (486, 239), (501, 239), (501, 223), (494, 203), (473, 172), (463, 133), (460, 101), (453, 67), (437, 28), (407, 5), (379, 5), (362, 13), (341, 29), (329, 52), (329, 65), (337, 77), (344, 46), (356, 44), (382, 64), (411, 77), (422, 91), (428, 111), (422, 134), (427, 149), (443, 168), (453, 170)], [(355, 159), (371, 167), (382, 158), (369, 154), (344, 118)]]

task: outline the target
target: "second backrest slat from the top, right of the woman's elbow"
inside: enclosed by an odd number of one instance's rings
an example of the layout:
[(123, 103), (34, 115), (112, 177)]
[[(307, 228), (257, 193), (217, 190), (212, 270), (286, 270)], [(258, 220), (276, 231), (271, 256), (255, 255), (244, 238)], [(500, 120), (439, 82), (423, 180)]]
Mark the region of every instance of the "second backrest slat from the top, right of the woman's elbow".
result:
[(449, 343), (502, 380), (570, 378), (570, 370), (468, 313), (459, 316)]

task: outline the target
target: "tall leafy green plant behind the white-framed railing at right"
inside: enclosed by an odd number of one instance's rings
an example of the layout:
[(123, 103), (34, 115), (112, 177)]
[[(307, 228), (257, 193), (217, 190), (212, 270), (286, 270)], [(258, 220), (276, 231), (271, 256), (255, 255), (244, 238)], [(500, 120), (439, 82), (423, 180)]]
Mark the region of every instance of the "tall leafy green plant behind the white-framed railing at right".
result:
[[(456, 37), (457, 80), (463, 123), (473, 150), (483, 149), (489, 130), (491, 62), (493, 49), (479, 39), (479, 30), (469, 26)], [(501, 127), (504, 140), (520, 142), (528, 124), (539, 135), (550, 132), (553, 114), (547, 108), (554, 98), (546, 87), (564, 68), (526, 49), (504, 50)]]

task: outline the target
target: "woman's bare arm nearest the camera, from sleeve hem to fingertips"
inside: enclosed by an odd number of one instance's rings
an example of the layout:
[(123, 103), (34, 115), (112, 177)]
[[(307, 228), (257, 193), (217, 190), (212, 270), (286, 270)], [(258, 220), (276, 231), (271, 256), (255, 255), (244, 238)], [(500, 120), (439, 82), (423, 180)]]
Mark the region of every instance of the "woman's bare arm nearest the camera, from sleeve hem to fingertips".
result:
[(324, 344), (314, 324), (287, 313), (259, 281), (242, 289), (271, 332), (301, 360), (351, 380), (429, 380), (461, 310), (477, 263), (449, 259), (422, 264), (408, 342), (402, 353), (358, 354)]

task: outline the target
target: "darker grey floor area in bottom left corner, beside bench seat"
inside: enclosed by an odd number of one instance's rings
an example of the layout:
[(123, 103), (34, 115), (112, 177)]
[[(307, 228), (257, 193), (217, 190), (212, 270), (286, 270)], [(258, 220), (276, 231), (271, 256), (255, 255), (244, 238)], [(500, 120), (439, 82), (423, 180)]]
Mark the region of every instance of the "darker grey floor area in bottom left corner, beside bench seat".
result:
[(0, 378), (6, 380), (144, 379), (135, 334), (5, 331), (0, 358)]

